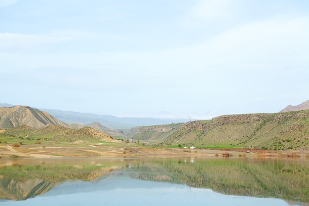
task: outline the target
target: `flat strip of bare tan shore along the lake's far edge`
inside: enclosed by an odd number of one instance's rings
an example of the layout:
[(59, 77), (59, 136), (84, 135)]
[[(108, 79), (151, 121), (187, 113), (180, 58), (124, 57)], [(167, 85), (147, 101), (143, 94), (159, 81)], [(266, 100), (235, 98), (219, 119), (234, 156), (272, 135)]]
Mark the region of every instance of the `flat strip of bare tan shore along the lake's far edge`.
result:
[[(246, 151), (249, 151), (247, 153)], [(258, 149), (184, 149), (138, 147), (136, 145), (116, 146), (45, 146), (20, 147), (0, 146), (0, 159), (12, 158), (171, 158), (171, 157), (198, 157), (198, 158), (300, 158), (309, 159), (309, 151), (269, 151)]]

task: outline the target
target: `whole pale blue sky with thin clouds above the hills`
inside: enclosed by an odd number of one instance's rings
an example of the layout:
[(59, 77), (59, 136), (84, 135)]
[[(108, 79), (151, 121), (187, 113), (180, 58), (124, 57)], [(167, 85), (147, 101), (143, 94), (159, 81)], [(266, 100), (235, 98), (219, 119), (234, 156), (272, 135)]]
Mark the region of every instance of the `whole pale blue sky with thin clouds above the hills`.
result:
[(308, 0), (0, 0), (0, 103), (210, 119), (307, 100)]

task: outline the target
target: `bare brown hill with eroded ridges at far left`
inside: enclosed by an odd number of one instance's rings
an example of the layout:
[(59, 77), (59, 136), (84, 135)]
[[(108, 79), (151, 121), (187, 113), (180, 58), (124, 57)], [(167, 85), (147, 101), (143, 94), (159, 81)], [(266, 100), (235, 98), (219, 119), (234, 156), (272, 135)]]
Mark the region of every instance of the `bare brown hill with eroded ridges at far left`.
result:
[(33, 128), (41, 128), (46, 125), (68, 127), (67, 124), (48, 113), (29, 106), (0, 107), (0, 128), (14, 128), (22, 124)]

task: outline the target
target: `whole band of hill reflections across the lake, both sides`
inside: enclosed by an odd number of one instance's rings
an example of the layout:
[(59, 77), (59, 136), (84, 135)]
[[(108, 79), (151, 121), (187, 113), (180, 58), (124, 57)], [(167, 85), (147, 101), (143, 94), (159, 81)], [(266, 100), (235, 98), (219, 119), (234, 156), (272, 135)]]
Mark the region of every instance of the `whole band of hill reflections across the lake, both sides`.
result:
[[(90, 159), (91, 160), (91, 159)], [(0, 168), (0, 198), (24, 200), (68, 180), (100, 181), (106, 176), (186, 184), (241, 196), (309, 203), (309, 162), (246, 159), (95, 160)]]

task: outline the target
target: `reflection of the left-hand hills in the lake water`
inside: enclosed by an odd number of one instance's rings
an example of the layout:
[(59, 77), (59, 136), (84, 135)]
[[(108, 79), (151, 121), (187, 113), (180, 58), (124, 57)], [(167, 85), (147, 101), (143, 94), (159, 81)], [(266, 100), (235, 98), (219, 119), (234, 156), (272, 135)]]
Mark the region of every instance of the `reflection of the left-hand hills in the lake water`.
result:
[(33, 160), (30, 163), (25, 160), (10, 163), (6, 160), (7, 165), (0, 166), (0, 199), (26, 200), (69, 180), (96, 181), (125, 164), (107, 161), (103, 165), (98, 160), (85, 159)]

